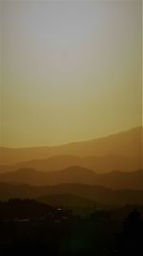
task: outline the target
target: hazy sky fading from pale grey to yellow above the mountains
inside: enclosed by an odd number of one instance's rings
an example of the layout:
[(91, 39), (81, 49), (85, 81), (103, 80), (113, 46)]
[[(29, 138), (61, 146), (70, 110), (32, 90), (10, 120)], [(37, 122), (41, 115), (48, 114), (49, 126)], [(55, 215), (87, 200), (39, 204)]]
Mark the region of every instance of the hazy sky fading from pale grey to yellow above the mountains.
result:
[(141, 1), (0, 2), (1, 144), (141, 125)]

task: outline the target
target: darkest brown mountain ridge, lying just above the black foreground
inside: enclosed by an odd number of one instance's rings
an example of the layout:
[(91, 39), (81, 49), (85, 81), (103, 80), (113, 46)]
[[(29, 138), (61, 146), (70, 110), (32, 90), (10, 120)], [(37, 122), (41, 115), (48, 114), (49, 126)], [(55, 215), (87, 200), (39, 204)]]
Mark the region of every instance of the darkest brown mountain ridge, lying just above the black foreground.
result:
[(64, 206), (80, 203), (89, 207), (93, 201), (102, 205), (143, 204), (143, 190), (112, 190), (84, 184), (35, 187), (0, 183), (0, 200), (9, 198), (37, 198), (51, 205), (54, 202), (55, 206), (64, 202)]

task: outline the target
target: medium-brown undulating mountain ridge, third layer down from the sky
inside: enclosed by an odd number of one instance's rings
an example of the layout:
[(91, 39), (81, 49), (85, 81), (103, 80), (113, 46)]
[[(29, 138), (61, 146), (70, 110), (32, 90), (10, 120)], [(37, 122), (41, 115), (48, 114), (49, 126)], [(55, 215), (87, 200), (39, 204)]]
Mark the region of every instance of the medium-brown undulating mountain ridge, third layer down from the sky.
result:
[(109, 174), (95, 174), (89, 169), (69, 167), (62, 171), (44, 173), (33, 169), (20, 169), (15, 172), (0, 174), (0, 182), (29, 185), (56, 185), (61, 183), (80, 183), (98, 185), (116, 189), (143, 190), (143, 170), (132, 173), (114, 171)]

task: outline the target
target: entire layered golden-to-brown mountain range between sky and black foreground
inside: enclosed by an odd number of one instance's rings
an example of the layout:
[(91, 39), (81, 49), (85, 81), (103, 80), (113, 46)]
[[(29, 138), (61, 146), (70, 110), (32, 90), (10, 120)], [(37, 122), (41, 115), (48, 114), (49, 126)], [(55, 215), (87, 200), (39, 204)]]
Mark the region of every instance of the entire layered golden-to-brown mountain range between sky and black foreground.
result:
[(55, 147), (0, 148), (0, 199), (69, 208), (143, 204), (142, 128)]

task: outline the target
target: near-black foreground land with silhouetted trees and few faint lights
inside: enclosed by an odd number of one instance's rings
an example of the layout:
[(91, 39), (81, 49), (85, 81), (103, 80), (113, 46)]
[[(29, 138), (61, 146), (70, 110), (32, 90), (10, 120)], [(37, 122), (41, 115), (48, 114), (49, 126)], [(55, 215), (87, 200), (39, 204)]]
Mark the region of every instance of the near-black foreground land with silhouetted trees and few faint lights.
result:
[(143, 255), (143, 207), (83, 219), (35, 200), (0, 202), (0, 255)]

